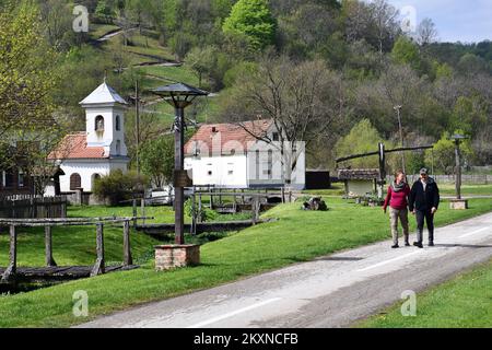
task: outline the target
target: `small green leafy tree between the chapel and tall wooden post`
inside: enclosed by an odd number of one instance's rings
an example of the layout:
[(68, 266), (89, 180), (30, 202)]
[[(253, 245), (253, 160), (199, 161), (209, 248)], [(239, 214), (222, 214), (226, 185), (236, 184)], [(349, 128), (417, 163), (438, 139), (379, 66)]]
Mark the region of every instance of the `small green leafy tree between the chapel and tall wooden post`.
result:
[(174, 140), (162, 137), (145, 142), (140, 150), (142, 172), (151, 183), (162, 188), (173, 179), (174, 171)]

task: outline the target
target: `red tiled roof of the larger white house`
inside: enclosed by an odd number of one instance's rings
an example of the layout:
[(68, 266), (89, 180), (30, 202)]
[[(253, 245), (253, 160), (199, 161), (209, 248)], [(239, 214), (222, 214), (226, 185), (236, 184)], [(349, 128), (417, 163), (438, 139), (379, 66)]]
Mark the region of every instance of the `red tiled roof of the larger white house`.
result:
[[(271, 119), (242, 121), (237, 124), (204, 125), (201, 126), (194, 137), (185, 144), (185, 153), (194, 154), (195, 144), (197, 142), (199, 143), (198, 148), (200, 149), (207, 147), (210, 152), (209, 154), (223, 154), (225, 149), (224, 145), (227, 144), (234, 148), (235, 144), (237, 144), (235, 142), (238, 142), (244, 150), (247, 150), (258, 140), (257, 137), (263, 137), (266, 135), (271, 125)], [(212, 140), (215, 141), (212, 142)], [(220, 140), (220, 143), (218, 140)], [(220, 150), (218, 150), (219, 147)]]

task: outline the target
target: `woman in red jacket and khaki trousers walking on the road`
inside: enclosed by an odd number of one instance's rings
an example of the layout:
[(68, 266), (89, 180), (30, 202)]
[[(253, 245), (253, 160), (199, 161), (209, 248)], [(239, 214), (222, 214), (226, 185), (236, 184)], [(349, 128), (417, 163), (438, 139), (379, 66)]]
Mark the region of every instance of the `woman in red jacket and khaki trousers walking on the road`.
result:
[(405, 236), (405, 245), (410, 246), (409, 243), (409, 228), (408, 228), (408, 196), (410, 195), (410, 186), (405, 180), (406, 176), (402, 171), (397, 171), (395, 174), (395, 182), (388, 187), (383, 210), (387, 211), (389, 206), (389, 220), (391, 224), (393, 246), (398, 248), (398, 219), (401, 222)]

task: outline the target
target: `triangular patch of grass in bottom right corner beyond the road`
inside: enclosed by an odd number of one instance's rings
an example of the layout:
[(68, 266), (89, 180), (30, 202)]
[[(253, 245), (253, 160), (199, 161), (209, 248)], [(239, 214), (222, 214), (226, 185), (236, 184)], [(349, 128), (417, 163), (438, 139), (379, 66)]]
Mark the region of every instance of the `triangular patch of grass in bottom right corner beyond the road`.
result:
[(401, 316), (401, 303), (358, 327), (478, 328), (492, 327), (492, 260), (417, 296), (417, 316)]

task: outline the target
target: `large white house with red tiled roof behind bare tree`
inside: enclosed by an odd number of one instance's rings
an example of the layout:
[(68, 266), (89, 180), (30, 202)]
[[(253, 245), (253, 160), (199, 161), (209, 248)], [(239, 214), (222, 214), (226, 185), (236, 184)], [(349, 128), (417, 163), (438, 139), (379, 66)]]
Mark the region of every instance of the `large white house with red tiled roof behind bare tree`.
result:
[[(279, 131), (272, 120), (214, 124), (199, 128), (185, 145), (185, 168), (194, 185), (219, 188), (305, 186), (305, 150), (295, 150), (296, 162), (284, 155), (282, 162)], [(289, 143), (289, 142), (286, 142)], [(284, 154), (291, 154), (284, 150)], [(286, 164), (295, 163), (289, 175)]]

